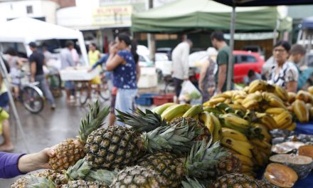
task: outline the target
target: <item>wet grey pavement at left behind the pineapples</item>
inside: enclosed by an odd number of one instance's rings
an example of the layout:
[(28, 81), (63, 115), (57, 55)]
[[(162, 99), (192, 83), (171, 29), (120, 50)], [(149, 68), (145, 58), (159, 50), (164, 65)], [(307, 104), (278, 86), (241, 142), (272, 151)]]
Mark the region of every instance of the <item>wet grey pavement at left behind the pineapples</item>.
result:
[[(16, 104), (23, 131), (26, 135), (26, 142), (31, 152), (37, 152), (45, 147), (58, 144), (66, 138), (78, 135), (80, 119), (87, 112), (87, 107), (66, 104), (64, 95), (62, 98), (56, 99), (56, 104), (57, 108), (53, 111), (50, 109), (48, 103), (46, 103), (45, 108), (38, 115), (28, 113), (20, 103)], [(102, 101), (102, 105), (107, 104), (108, 102)], [(11, 118), (10, 122), (11, 136), (15, 145), (13, 152), (27, 152), (26, 145), (21, 138), (21, 132), (17, 129), (14, 119)], [(0, 136), (1, 142), (2, 137)], [(16, 178), (0, 179), (0, 188), (10, 187), (15, 181)]]

